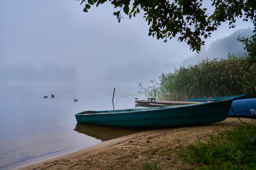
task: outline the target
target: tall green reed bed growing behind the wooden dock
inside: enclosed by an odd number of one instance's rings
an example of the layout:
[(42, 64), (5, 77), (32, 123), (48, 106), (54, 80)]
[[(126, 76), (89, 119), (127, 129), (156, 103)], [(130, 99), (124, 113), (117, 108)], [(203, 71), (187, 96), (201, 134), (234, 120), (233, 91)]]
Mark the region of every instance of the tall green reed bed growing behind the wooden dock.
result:
[(247, 65), (246, 56), (231, 55), (226, 59), (205, 59), (187, 68), (180, 66), (173, 73), (151, 80), (139, 93), (158, 100), (184, 101), (186, 98), (217, 97), (247, 94), (256, 97), (256, 66)]

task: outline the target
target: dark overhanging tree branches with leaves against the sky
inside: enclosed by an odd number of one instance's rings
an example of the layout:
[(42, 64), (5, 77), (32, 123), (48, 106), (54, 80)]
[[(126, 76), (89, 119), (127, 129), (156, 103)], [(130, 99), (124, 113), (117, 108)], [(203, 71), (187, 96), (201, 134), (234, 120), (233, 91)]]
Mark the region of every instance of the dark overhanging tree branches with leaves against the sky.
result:
[[(78, 0), (80, 1), (80, 0)], [(123, 11), (129, 18), (135, 17), (140, 11), (144, 11), (144, 18), (148, 22), (149, 36), (163, 39), (166, 42), (178, 35), (178, 41), (186, 42), (190, 49), (199, 52), (204, 39), (211, 37), (212, 32), (227, 22), (229, 28), (234, 28), (238, 18), (250, 21), (254, 25), (256, 33), (256, 2), (255, 0), (212, 0), (215, 11), (207, 13), (203, 8), (203, 0), (109, 0), (119, 11), (113, 14), (121, 22)], [(84, 3), (84, 12), (88, 12), (91, 5), (98, 6), (107, 0), (81, 0)], [(130, 7), (132, 7), (130, 9)], [(202, 40), (203, 39), (203, 40)], [(250, 57), (255, 59), (255, 35), (250, 38), (240, 38)], [(254, 45), (254, 46), (253, 46)], [(254, 52), (251, 48), (254, 48)], [(253, 56), (251, 56), (253, 55)]]

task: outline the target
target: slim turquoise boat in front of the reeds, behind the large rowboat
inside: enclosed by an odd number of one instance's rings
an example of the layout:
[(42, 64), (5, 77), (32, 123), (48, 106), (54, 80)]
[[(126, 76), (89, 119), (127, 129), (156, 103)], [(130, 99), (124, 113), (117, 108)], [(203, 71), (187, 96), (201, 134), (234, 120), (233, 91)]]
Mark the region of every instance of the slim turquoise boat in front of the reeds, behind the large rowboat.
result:
[(218, 101), (218, 100), (227, 100), (227, 99), (233, 99), (233, 100), (241, 100), (246, 99), (246, 94), (241, 94), (237, 96), (224, 96), (224, 97), (206, 97), (206, 98), (188, 98), (185, 101)]

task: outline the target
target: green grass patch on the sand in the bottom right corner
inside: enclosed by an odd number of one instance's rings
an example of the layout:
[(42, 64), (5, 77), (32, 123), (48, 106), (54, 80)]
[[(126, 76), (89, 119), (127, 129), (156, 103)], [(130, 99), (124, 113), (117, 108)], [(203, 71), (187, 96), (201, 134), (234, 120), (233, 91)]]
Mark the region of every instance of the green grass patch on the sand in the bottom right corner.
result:
[(246, 123), (232, 130), (217, 131), (208, 143), (180, 146), (181, 160), (195, 169), (256, 169), (256, 126)]

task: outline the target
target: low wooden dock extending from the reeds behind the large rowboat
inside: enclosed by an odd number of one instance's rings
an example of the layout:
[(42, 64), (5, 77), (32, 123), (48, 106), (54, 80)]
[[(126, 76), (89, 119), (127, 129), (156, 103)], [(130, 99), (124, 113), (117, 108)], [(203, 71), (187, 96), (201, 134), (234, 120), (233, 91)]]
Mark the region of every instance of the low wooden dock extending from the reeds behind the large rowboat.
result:
[(196, 103), (204, 103), (198, 101), (147, 101), (147, 100), (135, 100), (135, 106), (173, 106), (173, 105), (188, 105), (188, 104), (196, 104)]

